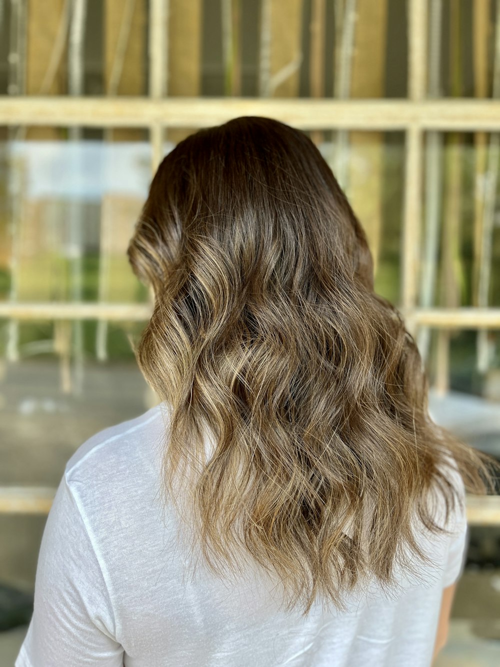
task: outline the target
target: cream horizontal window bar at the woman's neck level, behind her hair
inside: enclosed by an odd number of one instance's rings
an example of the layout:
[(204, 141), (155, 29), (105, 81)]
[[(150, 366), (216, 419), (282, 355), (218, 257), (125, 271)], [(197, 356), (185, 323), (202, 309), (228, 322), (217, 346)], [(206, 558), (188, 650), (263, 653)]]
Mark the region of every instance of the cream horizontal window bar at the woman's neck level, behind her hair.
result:
[[(399, 309), (405, 319), (436, 329), (500, 329), (500, 308)], [(147, 321), (153, 313), (148, 303), (16, 303), (0, 301), (0, 317), (11, 319), (107, 319)]]

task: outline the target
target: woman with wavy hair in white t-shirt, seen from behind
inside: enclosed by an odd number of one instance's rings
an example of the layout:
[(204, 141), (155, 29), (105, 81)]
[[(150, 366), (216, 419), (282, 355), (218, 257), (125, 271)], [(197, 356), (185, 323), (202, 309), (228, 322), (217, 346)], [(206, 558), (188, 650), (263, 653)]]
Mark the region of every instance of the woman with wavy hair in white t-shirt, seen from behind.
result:
[(317, 148), (257, 117), (188, 137), (128, 256), (161, 403), (69, 460), (16, 666), (431, 664), (493, 460), (429, 417)]

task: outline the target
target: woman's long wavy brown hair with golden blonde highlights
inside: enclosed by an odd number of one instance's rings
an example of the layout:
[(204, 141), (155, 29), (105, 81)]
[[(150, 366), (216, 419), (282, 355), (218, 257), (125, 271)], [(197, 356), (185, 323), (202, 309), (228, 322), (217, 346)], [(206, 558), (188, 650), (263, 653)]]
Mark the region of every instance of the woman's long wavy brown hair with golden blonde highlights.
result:
[(453, 468), (494, 492), (495, 460), (431, 420), (415, 341), (301, 131), (241, 117), (181, 141), (127, 254), (155, 295), (135, 355), (171, 410), (165, 502), (216, 576), (246, 554), (287, 610), (345, 608), (357, 583), (393, 584), (404, 554), (427, 558), (413, 518), (447, 532), (429, 497), (446, 520), (463, 502)]

